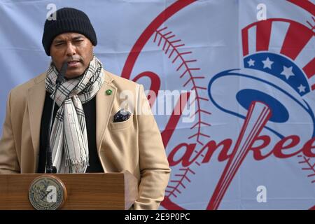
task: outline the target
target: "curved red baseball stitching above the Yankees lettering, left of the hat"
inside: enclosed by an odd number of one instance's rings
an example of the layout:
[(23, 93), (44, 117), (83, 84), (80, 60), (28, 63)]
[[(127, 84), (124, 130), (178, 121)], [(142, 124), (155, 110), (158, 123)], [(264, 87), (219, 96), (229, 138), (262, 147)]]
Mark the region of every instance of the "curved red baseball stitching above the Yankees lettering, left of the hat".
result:
[[(164, 34), (162, 34), (162, 31)], [(204, 98), (204, 97), (200, 97), (200, 93), (198, 92), (198, 90), (207, 90), (207, 87), (197, 85), (195, 82), (196, 79), (203, 79), (204, 76), (194, 76), (193, 71), (199, 71), (200, 68), (193, 68), (193, 67), (190, 67), (188, 65), (188, 63), (197, 62), (197, 59), (191, 59), (191, 60), (184, 59), (183, 55), (189, 55), (192, 52), (191, 51), (180, 52), (179, 48), (184, 46), (185, 44), (181, 43), (181, 39), (175, 39), (174, 40), (175, 35), (172, 34), (172, 31), (167, 31), (167, 27), (164, 27), (162, 29), (158, 29), (155, 31), (155, 37), (153, 40), (154, 43), (157, 41), (158, 36), (160, 36), (160, 39), (158, 40), (158, 46), (160, 46), (162, 41), (164, 41), (162, 50), (165, 52), (165, 55), (167, 55), (167, 53), (169, 52), (169, 59), (172, 56), (175, 56), (174, 59), (172, 60), (172, 64), (174, 64), (174, 62), (176, 62), (177, 59), (180, 59), (181, 64), (176, 69), (176, 71), (179, 71), (179, 69), (181, 69), (182, 67), (184, 67), (184, 69), (185, 69), (183, 71), (183, 73), (181, 73), (180, 78), (183, 78), (183, 76), (185, 76), (186, 74), (189, 75), (188, 80), (186, 81), (185, 84), (183, 84), (183, 87), (186, 87), (186, 85), (188, 85), (188, 83), (192, 83), (193, 87), (191, 88), (191, 90), (195, 90), (195, 92), (196, 92), (196, 97), (195, 97), (195, 99), (193, 99), (193, 102), (191, 102), (189, 104), (189, 106), (191, 106), (191, 104), (193, 104), (197, 100), (197, 111), (195, 111), (195, 113), (192, 116), (190, 116), (190, 118), (192, 118), (193, 116), (195, 116), (197, 114), (198, 121), (192, 127), (190, 127), (190, 129), (193, 129), (197, 126), (198, 131), (197, 131), (197, 133), (188, 137), (188, 139), (192, 139), (193, 137), (197, 137), (197, 143), (203, 145), (202, 141), (200, 141), (200, 137), (203, 136), (203, 137), (209, 138), (210, 136), (202, 133), (201, 127), (202, 127), (202, 125), (205, 125), (205, 126), (211, 126), (211, 125), (209, 123), (203, 122), (201, 116), (202, 116), (202, 113), (206, 113), (209, 115), (211, 115), (211, 113), (209, 111), (205, 111), (205, 110), (201, 109), (201, 106), (200, 106), (201, 100), (209, 101), (209, 99)]]

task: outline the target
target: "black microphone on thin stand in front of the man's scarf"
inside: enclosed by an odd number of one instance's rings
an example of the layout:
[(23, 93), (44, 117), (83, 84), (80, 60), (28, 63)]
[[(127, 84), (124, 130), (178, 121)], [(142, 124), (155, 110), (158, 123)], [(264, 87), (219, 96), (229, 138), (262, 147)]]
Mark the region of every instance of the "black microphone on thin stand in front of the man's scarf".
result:
[(54, 97), (52, 100), (52, 110), (50, 112), (50, 122), (49, 122), (49, 127), (48, 127), (48, 139), (47, 139), (47, 146), (46, 146), (46, 174), (56, 174), (57, 173), (56, 167), (52, 166), (52, 148), (50, 146), (50, 134), (51, 134), (51, 129), (52, 129), (52, 118), (53, 118), (53, 114), (55, 111), (56, 92), (57, 92), (59, 85), (64, 80), (64, 75), (66, 74), (67, 68), (68, 68), (68, 62), (64, 62), (62, 64), (62, 67), (61, 67), (59, 74), (57, 76), (55, 94), (54, 94)]

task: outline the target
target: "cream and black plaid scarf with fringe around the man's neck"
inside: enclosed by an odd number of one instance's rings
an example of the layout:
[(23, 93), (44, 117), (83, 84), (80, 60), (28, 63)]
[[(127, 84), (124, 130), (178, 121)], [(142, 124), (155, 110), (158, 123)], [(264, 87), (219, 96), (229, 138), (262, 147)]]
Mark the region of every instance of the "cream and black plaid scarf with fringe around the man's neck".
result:
[(104, 82), (102, 63), (93, 57), (82, 76), (64, 80), (56, 90), (58, 71), (50, 65), (45, 87), (59, 109), (52, 125), (50, 146), (57, 173), (84, 173), (89, 161), (87, 131), (82, 104), (90, 101)]

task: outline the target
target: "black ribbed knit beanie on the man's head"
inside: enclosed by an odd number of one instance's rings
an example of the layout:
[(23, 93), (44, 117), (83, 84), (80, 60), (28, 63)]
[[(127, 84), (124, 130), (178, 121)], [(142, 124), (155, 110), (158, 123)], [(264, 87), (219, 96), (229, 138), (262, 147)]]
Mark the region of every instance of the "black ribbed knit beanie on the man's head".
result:
[(42, 43), (48, 56), (53, 39), (67, 32), (83, 34), (92, 45), (97, 45), (97, 36), (87, 15), (76, 8), (60, 8), (56, 11), (56, 20), (45, 21)]

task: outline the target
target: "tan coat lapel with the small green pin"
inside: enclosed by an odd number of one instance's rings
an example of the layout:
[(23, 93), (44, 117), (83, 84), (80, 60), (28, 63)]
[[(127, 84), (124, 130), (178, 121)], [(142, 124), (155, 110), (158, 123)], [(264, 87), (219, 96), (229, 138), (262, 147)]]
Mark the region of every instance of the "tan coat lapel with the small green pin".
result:
[[(111, 116), (113, 101), (117, 92), (117, 87), (114, 86), (112, 82), (113, 78), (111, 78), (109, 73), (104, 71), (104, 83), (96, 95), (97, 151), (101, 148), (104, 133)], [(107, 90), (111, 90), (111, 93), (106, 93)]]

